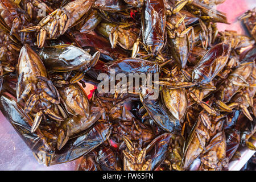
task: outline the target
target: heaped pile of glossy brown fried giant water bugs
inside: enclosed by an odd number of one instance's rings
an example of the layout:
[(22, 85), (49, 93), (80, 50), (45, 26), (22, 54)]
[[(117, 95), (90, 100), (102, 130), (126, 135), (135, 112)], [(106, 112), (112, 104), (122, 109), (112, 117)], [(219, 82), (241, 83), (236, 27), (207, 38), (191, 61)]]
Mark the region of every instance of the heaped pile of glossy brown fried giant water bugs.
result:
[(220, 32), (224, 1), (1, 0), (0, 109), (46, 166), (223, 170), (256, 148), (256, 9)]

